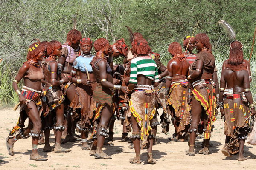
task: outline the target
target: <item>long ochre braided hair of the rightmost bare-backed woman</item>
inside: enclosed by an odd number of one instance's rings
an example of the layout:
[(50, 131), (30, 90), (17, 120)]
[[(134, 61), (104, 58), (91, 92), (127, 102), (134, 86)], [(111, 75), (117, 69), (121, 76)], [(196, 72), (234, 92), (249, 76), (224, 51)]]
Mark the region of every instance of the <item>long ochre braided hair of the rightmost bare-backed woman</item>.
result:
[(244, 62), (243, 45), (239, 41), (233, 41), (230, 44), (230, 56), (227, 60), (228, 64), (239, 65)]

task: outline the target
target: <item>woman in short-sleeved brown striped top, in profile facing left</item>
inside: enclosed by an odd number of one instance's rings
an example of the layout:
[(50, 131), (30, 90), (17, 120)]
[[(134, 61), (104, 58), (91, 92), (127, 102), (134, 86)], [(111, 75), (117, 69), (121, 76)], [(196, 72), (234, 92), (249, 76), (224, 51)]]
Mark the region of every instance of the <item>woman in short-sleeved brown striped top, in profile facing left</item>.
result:
[(193, 90), (191, 95), (191, 85), (188, 90), (188, 103), (192, 101), (191, 125), (189, 150), (186, 155), (195, 156), (194, 146), (195, 137), (198, 133), (198, 124), (200, 119), (204, 122), (204, 148), (199, 150), (200, 154), (209, 155), (209, 141), (211, 137), (212, 124), (216, 120), (216, 84), (212, 81), (215, 57), (212, 55), (212, 47), (209, 37), (200, 33), (195, 36), (195, 48), (198, 50), (195, 62), (192, 64), (193, 73), (187, 78), (192, 83)]

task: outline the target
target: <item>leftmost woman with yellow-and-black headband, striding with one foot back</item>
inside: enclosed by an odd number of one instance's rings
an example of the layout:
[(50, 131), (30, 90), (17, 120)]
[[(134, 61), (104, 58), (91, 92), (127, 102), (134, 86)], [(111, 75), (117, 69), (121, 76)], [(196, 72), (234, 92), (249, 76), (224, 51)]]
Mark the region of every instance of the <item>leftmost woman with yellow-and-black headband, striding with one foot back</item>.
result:
[[(17, 76), (13, 80), (12, 86), (19, 95), (20, 100), (20, 118), (17, 125), (6, 138), (6, 145), (9, 155), (14, 155), (13, 145), (21, 138), (32, 137), (32, 153), (30, 159), (35, 161), (47, 161), (43, 156), (38, 154), (38, 140), (41, 135), (41, 119), (39, 105), (41, 103), (40, 96), (42, 95), (41, 80), (44, 79), (43, 70), (38, 61), (41, 61), (45, 56), (46, 46), (41, 45), (40, 41), (29, 46), (27, 61), (23, 63)], [(20, 92), (18, 83), (23, 78), (24, 85)], [(43, 101), (45, 102), (45, 101)], [(45, 111), (45, 107), (44, 107)], [(28, 127), (24, 128), (26, 118), (29, 118)], [(15, 136), (16, 133), (19, 133)]]

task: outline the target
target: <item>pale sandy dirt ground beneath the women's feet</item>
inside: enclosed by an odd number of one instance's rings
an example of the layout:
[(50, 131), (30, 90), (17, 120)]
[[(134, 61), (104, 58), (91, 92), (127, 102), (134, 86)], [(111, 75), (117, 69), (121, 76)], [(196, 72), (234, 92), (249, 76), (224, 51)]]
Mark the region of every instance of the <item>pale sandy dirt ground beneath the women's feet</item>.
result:
[[(141, 151), (141, 165), (129, 163), (129, 158), (135, 156), (133, 149), (128, 148), (128, 143), (120, 142), (122, 137), (122, 126), (119, 121), (116, 121), (114, 128), (114, 146), (105, 146), (105, 153), (112, 156), (112, 159), (102, 160), (94, 159), (89, 156), (89, 151), (81, 150), (81, 142), (66, 143), (63, 147), (71, 148), (71, 153), (44, 153), (44, 145), (38, 145), (38, 152), (46, 156), (48, 161), (32, 161), (29, 160), (29, 155), (32, 151), (31, 139), (20, 139), (14, 145), (14, 156), (10, 156), (6, 150), (5, 139), (9, 134), (12, 126), (15, 126), (19, 111), (11, 109), (0, 110), (0, 169), (1, 170), (77, 170), (77, 169), (99, 169), (99, 170), (131, 170), (131, 169), (175, 169), (175, 170), (241, 170), (241, 169), (256, 169), (256, 146), (246, 143), (244, 155), (248, 158), (246, 161), (237, 161), (237, 156), (226, 158), (221, 149), (225, 142), (223, 133), (224, 122), (218, 117), (215, 122), (215, 129), (212, 133), (211, 142), (214, 147), (210, 148), (211, 154), (204, 156), (196, 154), (196, 156), (186, 156), (185, 150), (188, 149), (187, 142), (170, 142), (168, 137), (174, 132), (174, 128), (167, 135), (160, 133), (158, 126), (157, 137), (159, 144), (153, 146), (153, 156), (157, 159), (157, 164), (149, 165), (145, 161), (147, 159), (147, 150)], [(53, 134), (53, 131), (51, 131)], [(198, 137), (199, 142), (196, 142), (197, 153), (201, 149), (201, 136)], [(54, 146), (54, 137), (51, 136), (51, 146)]]

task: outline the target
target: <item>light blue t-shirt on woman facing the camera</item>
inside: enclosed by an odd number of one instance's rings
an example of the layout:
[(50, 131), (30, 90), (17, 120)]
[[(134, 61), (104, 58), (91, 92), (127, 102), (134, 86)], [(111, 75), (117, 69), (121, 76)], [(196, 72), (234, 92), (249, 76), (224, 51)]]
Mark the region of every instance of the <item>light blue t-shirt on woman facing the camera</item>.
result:
[(92, 55), (92, 57), (83, 57), (83, 56), (79, 56), (75, 59), (74, 63), (73, 63), (73, 68), (76, 68), (77, 70), (80, 70), (83, 73), (86, 73), (86, 70), (84, 68), (87, 68), (89, 73), (93, 72), (93, 68), (90, 65), (90, 62), (92, 61), (94, 55)]

